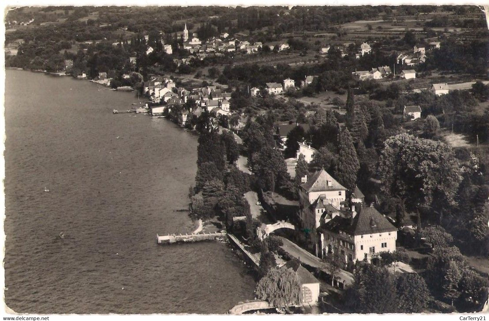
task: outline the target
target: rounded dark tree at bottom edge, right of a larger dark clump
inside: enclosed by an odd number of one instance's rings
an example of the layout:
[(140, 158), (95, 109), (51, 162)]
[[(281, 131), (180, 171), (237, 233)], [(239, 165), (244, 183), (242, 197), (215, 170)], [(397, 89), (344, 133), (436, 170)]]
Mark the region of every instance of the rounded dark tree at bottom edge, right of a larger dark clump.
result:
[(426, 282), (418, 274), (401, 274), (396, 279), (398, 313), (421, 313), (428, 305), (430, 294)]

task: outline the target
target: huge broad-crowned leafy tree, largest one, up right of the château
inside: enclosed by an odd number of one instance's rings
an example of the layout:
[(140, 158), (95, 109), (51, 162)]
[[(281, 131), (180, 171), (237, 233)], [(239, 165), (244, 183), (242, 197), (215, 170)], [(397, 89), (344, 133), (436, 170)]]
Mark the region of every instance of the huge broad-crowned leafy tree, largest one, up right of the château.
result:
[(459, 163), (446, 144), (408, 134), (384, 142), (378, 165), (381, 190), (416, 207), (433, 201), (453, 204), (462, 180)]

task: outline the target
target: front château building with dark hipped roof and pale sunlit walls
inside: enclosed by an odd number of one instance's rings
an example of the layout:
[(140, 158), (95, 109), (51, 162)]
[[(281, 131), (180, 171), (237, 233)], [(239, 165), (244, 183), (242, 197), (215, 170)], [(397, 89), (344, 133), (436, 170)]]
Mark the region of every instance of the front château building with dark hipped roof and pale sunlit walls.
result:
[(345, 262), (378, 257), (396, 250), (397, 229), (373, 207), (358, 205), (350, 217), (334, 217), (317, 229), (323, 256), (336, 253)]

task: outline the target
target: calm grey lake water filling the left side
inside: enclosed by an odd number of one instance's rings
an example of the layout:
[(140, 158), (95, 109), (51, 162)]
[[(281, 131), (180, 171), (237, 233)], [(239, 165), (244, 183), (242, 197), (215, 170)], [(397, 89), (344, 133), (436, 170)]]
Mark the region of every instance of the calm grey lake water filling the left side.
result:
[(253, 278), (225, 244), (156, 245), (157, 233), (195, 228), (181, 210), (197, 137), (111, 112), (134, 102), (87, 81), (6, 70), (5, 303), (14, 311), (224, 313), (253, 299)]

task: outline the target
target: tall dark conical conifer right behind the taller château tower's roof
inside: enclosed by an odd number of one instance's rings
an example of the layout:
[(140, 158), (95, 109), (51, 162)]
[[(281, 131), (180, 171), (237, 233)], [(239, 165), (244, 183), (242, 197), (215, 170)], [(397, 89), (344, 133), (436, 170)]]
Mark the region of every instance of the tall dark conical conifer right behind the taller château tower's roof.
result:
[(335, 167), (335, 178), (349, 191), (353, 191), (356, 186), (356, 174), (359, 169), (360, 163), (356, 156), (352, 137), (348, 129), (345, 128), (339, 134), (339, 152)]

